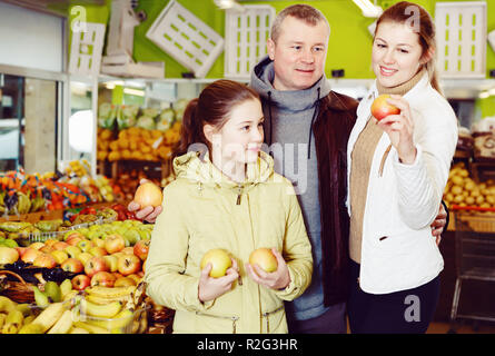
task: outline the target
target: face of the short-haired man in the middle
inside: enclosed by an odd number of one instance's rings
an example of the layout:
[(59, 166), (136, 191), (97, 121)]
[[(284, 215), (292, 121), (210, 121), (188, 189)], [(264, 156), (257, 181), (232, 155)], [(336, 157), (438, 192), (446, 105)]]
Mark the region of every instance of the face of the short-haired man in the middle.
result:
[(311, 87), (325, 70), (329, 29), (324, 21), (307, 24), (291, 16), (284, 19), (275, 43), (268, 39), (268, 56), (274, 61), (274, 88), (301, 90)]

